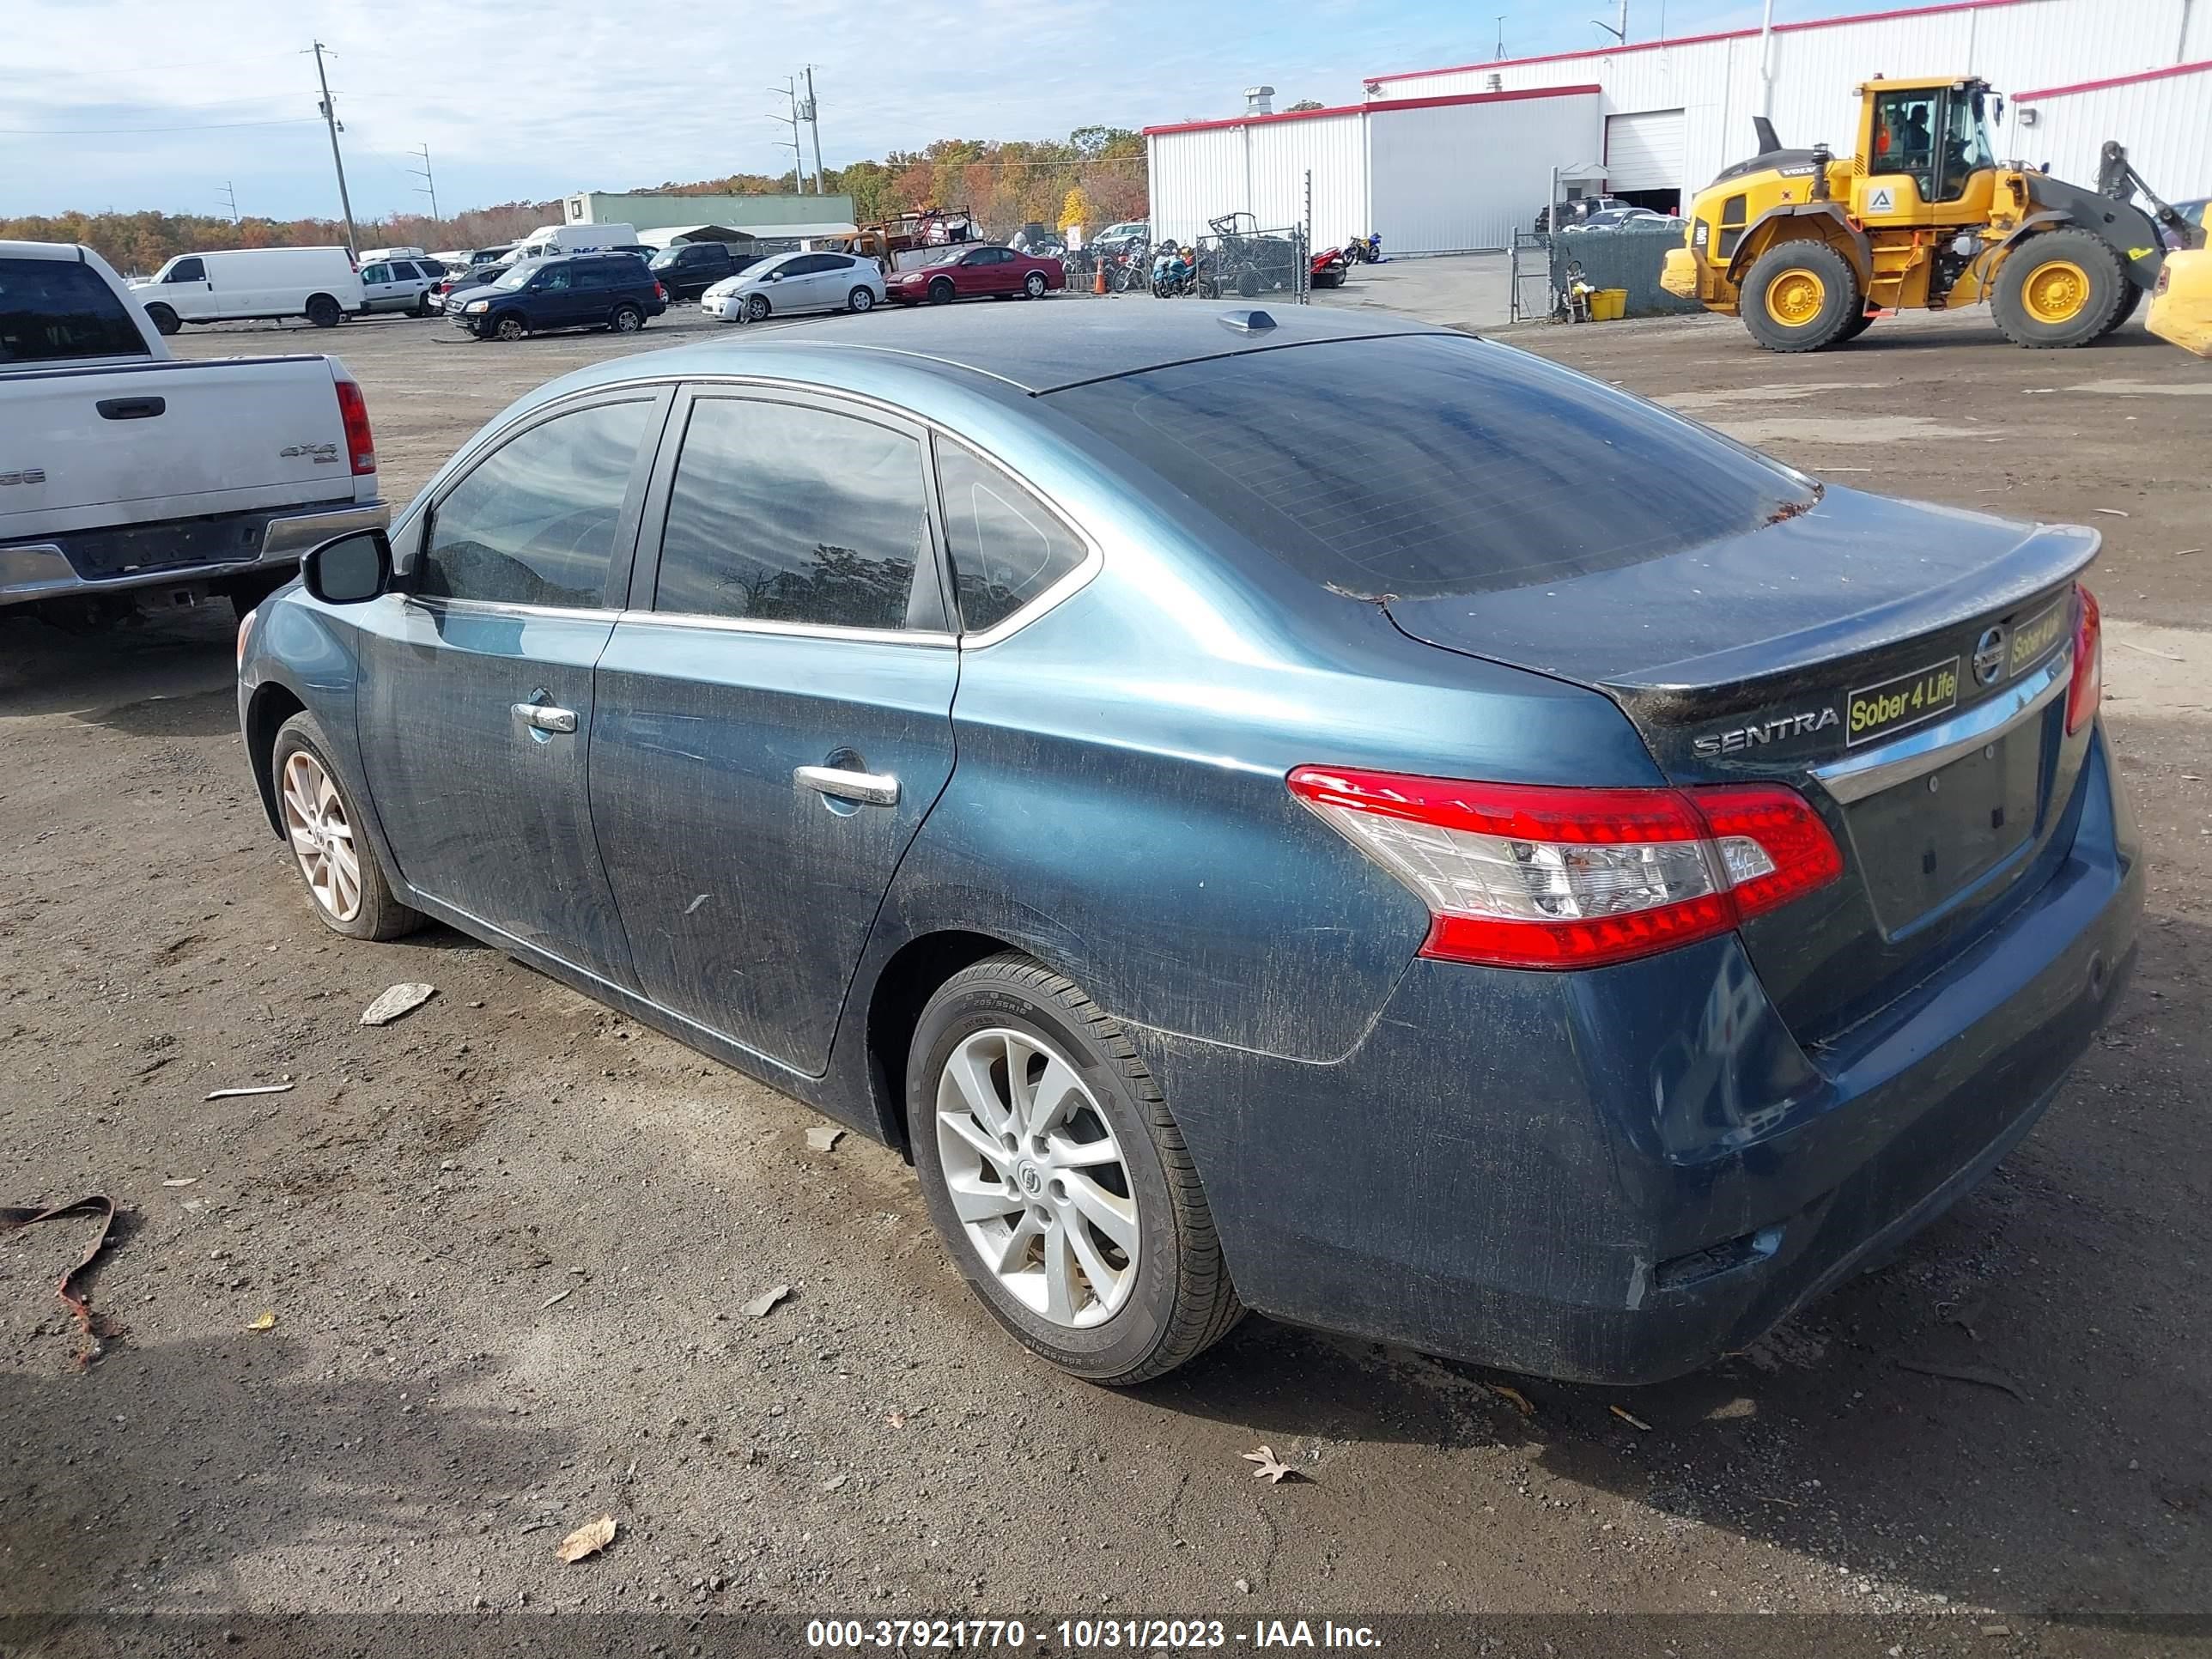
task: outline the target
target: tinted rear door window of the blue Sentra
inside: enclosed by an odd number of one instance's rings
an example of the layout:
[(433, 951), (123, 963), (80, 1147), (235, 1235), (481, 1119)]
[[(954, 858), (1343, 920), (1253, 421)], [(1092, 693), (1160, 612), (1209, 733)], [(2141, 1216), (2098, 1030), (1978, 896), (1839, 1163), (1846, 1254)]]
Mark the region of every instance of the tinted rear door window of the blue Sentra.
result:
[(668, 491), (655, 611), (905, 628), (929, 555), (922, 445), (872, 420), (701, 398)]

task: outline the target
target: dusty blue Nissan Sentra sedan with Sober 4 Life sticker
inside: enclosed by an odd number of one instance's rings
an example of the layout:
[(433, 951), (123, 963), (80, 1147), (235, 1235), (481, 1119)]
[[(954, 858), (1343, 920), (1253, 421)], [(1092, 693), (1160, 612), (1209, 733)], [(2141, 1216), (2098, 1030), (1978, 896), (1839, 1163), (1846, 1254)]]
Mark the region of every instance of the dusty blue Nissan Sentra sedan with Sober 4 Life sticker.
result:
[(2135, 960), (2086, 529), (1343, 312), (531, 394), (239, 637), (321, 920), (911, 1155), (1099, 1383), (1245, 1307), (1681, 1374), (1955, 1201)]

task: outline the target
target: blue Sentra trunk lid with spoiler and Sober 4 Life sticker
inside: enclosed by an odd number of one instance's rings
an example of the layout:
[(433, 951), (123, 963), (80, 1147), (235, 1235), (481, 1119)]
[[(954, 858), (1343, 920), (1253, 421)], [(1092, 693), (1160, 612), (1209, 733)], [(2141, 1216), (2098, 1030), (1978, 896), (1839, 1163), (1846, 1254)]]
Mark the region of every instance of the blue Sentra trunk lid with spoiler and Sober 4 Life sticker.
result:
[(1639, 564), (1391, 599), (1447, 650), (1606, 692), (1674, 783), (1807, 794), (1845, 878), (1745, 925), (1805, 1042), (1938, 971), (2062, 856), (2075, 575), (2097, 535), (1829, 489)]

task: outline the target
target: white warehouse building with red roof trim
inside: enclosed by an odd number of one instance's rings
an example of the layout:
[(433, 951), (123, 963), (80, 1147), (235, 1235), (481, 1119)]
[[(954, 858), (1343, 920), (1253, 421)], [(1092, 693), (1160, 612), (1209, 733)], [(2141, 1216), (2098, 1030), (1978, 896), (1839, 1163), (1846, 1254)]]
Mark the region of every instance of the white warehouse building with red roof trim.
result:
[(1772, 29), (1369, 75), (1365, 102), (1146, 128), (1155, 234), (1234, 210), (1385, 252), (1502, 248), (1551, 173), (1672, 210), (1752, 155), (1752, 117), (1849, 155), (1854, 88), (1980, 75), (2006, 97), (1995, 146), (2075, 184), (2108, 137), (2166, 199), (2212, 195), (2212, 0), (1951, 0)]

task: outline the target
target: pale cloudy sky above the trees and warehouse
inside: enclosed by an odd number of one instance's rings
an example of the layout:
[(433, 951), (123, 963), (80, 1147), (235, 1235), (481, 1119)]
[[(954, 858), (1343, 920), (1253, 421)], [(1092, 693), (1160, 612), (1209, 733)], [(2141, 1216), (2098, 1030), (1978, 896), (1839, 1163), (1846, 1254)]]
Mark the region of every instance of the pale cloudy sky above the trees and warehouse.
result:
[[(1608, 0), (7, 0), (0, 215), (64, 208), (334, 215), (310, 40), (330, 46), (361, 217), (416, 210), (427, 144), (445, 212), (790, 166), (770, 113), (814, 62), (830, 166), (933, 137), (1064, 137), (1358, 97), (1360, 75), (1590, 46)], [(1776, 15), (1849, 11), (1783, 0)], [(1672, 0), (1668, 33), (1759, 20)], [(1632, 0), (1630, 40), (1657, 33)], [(418, 161), (416, 161), (418, 166)]]

